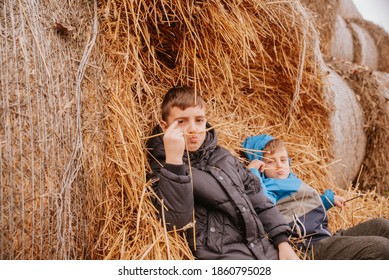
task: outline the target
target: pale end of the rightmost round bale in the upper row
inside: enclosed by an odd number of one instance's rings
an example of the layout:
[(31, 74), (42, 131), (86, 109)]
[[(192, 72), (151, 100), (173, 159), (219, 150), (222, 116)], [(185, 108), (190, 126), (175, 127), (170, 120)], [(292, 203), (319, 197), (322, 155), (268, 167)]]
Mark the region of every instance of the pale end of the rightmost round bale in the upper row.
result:
[(354, 45), (354, 63), (378, 69), (379, 52), (368, 30), (355, 22), (350, 23)]

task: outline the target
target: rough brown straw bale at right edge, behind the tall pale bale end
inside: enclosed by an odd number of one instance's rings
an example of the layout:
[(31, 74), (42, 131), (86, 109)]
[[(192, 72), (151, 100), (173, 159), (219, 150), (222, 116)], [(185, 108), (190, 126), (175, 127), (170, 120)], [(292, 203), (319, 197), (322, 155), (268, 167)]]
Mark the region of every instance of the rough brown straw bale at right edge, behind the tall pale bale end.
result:
[[(385, 74), (367, 67), (333, 60), (331, 67), (347, 81), (355, 92), (364, 114), (367, 136), (366, 156), (358, 176), (361, 190), (375, 190), (387, 196), (389, 190), (389, 113), (387, 110)], [(356, 181), (356, 179), (354, 181)]]

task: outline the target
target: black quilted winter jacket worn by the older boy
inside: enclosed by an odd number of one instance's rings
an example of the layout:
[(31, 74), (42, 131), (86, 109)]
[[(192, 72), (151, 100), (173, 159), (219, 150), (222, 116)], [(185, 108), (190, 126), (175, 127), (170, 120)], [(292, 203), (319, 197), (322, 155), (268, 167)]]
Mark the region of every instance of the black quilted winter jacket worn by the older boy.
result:
[[(160, 132), (158, 126), (153, 134)], [(158, 179), (153, 185), (160, 199), (156, 204), (168, 229), (193, 223), (194, 213), (195, 226), (186, 230), (186, 237), (196, 258), (278, 258), (275, 245), (287, 241), (290, 227), (251, 171), (217, 145), (214, 130), (189, 160), (185, 152), (183, 165), (165, 163), (162, 136), (151, 138), (147, 146), (148, 178)]]

